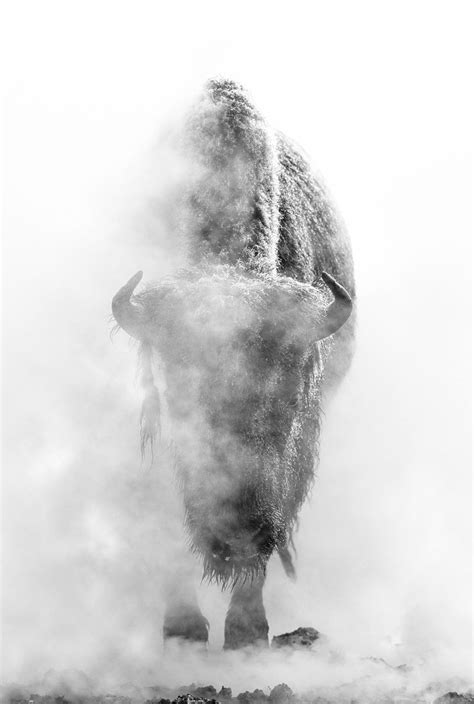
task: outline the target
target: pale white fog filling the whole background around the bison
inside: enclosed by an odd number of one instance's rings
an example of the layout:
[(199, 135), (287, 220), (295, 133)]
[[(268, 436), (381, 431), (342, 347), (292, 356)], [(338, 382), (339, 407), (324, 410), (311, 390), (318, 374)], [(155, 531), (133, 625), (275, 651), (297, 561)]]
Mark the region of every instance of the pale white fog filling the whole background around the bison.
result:
[[(108, 685), (303, 690), (368, 656), (469, 679), (469, 9), (10, 4), (2, 681), (76, 668)], [(216, 75), (303, 147), (353, 243), (356, 356), (325, 412), (297, 580), (272, 558), (264, 592), (271, 635), (327, 636), (317, 666), (223, 657), (229, 595), (198, 562), (209, 655), (163, 654), (182, 508), (166, 451), (141, 461), (136, 348), (111, 338), (110, 302), (138, 269), (180, 261), (156, 201), (180, 166), (157, 145)]]

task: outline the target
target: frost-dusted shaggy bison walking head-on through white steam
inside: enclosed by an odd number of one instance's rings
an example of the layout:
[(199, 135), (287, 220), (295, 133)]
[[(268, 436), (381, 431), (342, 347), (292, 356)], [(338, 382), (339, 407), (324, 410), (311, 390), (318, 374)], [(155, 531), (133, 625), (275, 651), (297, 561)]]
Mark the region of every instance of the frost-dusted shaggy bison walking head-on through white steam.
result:
[[(322, 395), (352, 357), (353, 265), (321, 183), (241, 86), (210, 81), (179, 143), (189, 163), (176, 221), (187, 265), (136, 294), (135, 274), (112, 310), (140, 341), (142, 446), (159, 425), (154, 356), (164, 370), (190, 549), (205, 576), (231, 589), (224, 647), (234, 649), (268, 644), (270, 556), (293, 573)], [(179, 574), (164, 635), (208, 639)]]

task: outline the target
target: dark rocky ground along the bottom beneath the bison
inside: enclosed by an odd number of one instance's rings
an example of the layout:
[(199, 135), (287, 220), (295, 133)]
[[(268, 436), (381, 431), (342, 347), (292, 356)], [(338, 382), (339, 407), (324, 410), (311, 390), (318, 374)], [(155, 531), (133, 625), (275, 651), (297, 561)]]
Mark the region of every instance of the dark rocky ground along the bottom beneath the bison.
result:
[[(305, 667), (314, 668), (321, 664), (322, 649), (327, 642), (316, 629), (302, 627), (275, 636), (271, 651), (266, 652), (272, 658), (280, 658), (280, 662), (281, 657), (291, 659), (295, 654), (303, 654)], [(341, 663), (339, 654), (326, 652)], [(246, 655), (258, 657), (258, 652), (252, 650)], [(471, 683), (460, 678), (429, 681), (415, 667), (392, 666), (377, 657), (358, 658), (357, 662), (360, 665), (357, 674), (354, 669), (352, 675), (349, 669), (344, 670), (347, 678), (342, 684), (328, 686), (321, 681), (309, 691), (307, 687), (293, 691), (285, 683), (268, 682), (265, 691), (254, 689), (236, 695), (227, 686), (217, 689), (213, 684), (195, 683), (165, 687), (128, 682), (103, 691), (80, 670), (49, 670), (40, 680), (27, 685), (4, 684), (0, 687), (0, 701), (5, 704), (474, 704)], [(278, 666), (273, 668), (273, 673), (276, 671)], [(268, 673), (269, 679), (272, 676), (275, 674)]]

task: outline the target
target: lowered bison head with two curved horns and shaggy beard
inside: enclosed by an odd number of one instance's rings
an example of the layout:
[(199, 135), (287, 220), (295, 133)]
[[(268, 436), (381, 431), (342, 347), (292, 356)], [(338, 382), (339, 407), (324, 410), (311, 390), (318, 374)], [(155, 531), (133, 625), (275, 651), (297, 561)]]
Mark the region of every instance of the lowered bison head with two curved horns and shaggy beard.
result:
[(158, 354), (192, 548), (223, 583), (265, 568), (287, 543), (313, 477), (330, 337), (351, 299), (224, 265), (186, 270), (113, 299), (120, 327)]

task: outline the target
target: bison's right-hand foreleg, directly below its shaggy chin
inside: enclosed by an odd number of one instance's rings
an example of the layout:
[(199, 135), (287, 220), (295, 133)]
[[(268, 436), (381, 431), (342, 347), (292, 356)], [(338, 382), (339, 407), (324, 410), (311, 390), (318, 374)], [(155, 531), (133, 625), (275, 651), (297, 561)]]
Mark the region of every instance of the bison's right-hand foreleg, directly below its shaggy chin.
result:
[(268, 647), (268, 622), (262, 597), (264, 581), (264, 576), (255, 577), (234, 588), (225, 620), (225, 650), (248, 645)]

